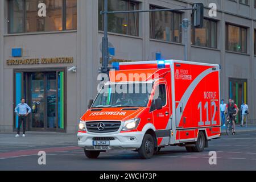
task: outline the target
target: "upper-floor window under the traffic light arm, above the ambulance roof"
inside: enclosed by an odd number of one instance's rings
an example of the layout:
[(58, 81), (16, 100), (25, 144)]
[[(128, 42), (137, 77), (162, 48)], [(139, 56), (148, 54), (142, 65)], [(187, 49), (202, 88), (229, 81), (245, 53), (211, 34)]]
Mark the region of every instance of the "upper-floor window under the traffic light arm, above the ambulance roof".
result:
[[(160, 9), (150, 6), (150, 9)], [(181, 43), (181, 13), (156, 11), (150, 13), (150, 38)]]

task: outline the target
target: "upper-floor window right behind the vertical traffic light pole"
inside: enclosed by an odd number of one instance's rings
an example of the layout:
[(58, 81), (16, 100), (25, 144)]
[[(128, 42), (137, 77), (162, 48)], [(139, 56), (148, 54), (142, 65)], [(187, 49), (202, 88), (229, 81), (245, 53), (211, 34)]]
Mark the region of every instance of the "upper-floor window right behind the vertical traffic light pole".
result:
[[(104, 0), (98, 1), (98, 29), (104, 30), (104, 17), (100, 15), (100, 11), (104, 10)], [(139, 10), (137, 2), (133, 1), (121, 1), (121, 0), (109, 0), (109, 11), (129, 11)], [(123, 13), (123, 14), (109, 14), (108, 15), (108, 31), (125, 34), (125, 35), (139, 35), (139, 14), (138, 13)]]

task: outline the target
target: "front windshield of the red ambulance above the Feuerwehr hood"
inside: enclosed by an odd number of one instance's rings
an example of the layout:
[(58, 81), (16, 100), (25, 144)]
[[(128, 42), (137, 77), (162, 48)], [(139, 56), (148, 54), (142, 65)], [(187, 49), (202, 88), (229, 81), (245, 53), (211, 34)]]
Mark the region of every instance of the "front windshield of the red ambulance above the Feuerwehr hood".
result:
[(108, 84), (92, 107), (146, 107), (151, 91), (152, 83)]

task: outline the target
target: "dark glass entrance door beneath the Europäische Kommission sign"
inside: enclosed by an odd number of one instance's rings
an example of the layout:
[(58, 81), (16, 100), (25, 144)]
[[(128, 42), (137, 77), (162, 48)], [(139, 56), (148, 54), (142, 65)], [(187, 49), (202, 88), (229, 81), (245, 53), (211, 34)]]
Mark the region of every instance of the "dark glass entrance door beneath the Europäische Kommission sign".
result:
[(30, 131), (64, 131), (64, 72), (29, 72), (25, 95)]

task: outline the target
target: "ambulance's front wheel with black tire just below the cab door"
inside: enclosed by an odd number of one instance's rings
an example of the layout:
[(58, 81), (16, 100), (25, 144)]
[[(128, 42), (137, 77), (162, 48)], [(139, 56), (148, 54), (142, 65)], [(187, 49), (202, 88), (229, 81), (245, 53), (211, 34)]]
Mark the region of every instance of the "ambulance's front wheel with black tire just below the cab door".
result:
[(142, 140), (142, 145), (138, 150), (141, 159), (150, 159), (155, 152), (154, 138), (150, 134), (146, 134)]

